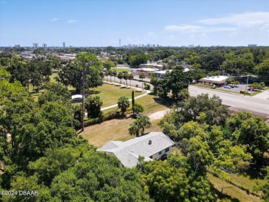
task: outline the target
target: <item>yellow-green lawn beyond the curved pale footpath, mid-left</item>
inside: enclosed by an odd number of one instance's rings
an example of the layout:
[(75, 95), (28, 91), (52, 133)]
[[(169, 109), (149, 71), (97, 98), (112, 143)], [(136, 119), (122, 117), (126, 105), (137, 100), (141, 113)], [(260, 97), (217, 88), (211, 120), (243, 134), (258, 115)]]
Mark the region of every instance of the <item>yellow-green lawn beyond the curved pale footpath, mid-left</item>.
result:
[[(120, 86), (115, 86), (107, 83), (103, 85), (86, 91), (86, 97), (99, 96), (103, 100), (102, 108), (108, 107), (110, 105), (115, 105), (120, 97), (126, 96), (128, 99), (132, 98), (132, 88), (121, 88)], [(145, 92), (135, 92), (135, 97)]]

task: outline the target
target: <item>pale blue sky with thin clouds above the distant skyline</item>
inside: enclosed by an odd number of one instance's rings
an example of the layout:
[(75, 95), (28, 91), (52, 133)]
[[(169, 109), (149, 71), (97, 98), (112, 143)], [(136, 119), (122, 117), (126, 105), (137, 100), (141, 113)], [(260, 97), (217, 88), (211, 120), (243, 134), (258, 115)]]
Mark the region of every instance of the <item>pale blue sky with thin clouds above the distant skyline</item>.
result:
[(269, 0), (0, 0), (0, 46), (269, 46)]

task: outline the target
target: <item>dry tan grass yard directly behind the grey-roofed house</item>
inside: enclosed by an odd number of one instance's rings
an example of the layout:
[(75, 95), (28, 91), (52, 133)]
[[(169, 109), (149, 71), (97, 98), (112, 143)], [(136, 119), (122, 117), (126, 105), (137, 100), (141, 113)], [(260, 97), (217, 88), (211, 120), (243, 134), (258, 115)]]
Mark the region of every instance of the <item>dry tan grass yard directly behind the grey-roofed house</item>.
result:
[[(127, 141), (128, 139), (135, 138), (135, 136), (131, 136), (128, 132), (132, 121), (135, 121), (135, 119), (130, 118), (130, 114), (127, 114), (126, 119), (112, 119), (110, 121), (86, 127), (80, 135), (85, 139), (88, 139), (90, 145), (101, 148), (101, 146), (111, 140)], [(146, 132), (161, 131), (161, 128), (157, 125), (159, 121), (160, 120), (152, 121), (152, 126), (148, 128)]]

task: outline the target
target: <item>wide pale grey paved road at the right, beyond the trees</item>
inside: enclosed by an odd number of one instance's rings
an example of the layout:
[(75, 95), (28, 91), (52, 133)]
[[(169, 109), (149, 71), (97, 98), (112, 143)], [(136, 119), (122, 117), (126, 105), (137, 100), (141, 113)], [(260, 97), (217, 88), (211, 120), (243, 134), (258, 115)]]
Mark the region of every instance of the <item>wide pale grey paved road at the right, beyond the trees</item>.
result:
[(241, 108), (250, 112), (258, 112), (259, 116), (269, 118), (269, 101), (266, 99), (248, 96), (244, 97), (241, 94), (229, 94), (226, 92), (197, 88), (195, 86), (189, 86), (189, 91), (191, 96), (197, 96), (202, 93), (208, 93), (210, 96), (216, 94), (222, 99), (224, 105)]

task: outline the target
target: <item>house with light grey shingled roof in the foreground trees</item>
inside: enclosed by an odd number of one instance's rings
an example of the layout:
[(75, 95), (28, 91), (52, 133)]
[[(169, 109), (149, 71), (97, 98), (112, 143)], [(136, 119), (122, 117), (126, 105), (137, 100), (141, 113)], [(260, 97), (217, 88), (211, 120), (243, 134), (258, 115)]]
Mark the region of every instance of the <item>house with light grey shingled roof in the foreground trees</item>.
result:
[(137, 165), (139, 156), (145, 157), (145, 161), (159, 160), (172, 152), (174, 144), (163, 132), (150, 132), (125, 142), (109, 141), (98, 151), (116, 156), (121, 167), (132, 168)]

